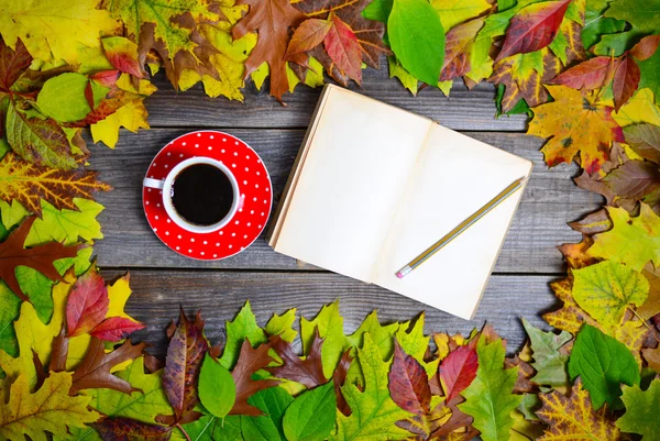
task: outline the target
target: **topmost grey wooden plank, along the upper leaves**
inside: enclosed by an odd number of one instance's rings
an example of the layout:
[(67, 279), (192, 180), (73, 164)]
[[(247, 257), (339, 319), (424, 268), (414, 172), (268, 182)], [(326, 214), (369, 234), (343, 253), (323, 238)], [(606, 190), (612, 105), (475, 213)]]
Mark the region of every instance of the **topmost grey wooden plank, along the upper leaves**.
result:
[[(158, 91), (146, 99), (152, 126), (216, 128), (304, 128), (307, 126), (318, 100), (320, 88), (299, 85), (295, 93), (286, 93), (282, 106), (268, 96), (267, 88), (257, 91), (249, 81), (245, 100), (209, 98), (201, 85), (179, 92), (163, 75), (154, 77)], [(437, 88), (425, 88), (417, 97), (406, 90), (396, 78), (389, 78), (387, 68), (366, 69), (363, 86), (351, 89), (381, 101), (400, 107), (441, 122), (455, 130), (524, 131), (525, 115), (495, 119), (495, 88), (482, 82), (472, 90), (458, 80), (447, 98)]]

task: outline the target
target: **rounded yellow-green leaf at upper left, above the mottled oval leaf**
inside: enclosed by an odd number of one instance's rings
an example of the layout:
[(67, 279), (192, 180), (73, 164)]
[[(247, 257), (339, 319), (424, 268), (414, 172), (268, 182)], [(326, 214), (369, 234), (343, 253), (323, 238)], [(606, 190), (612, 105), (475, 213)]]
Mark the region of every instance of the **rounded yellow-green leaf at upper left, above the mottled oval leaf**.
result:
[(91, 111), (85, 98), (89, 84), (82, 74), (67, 73), (48, 79), (36, 97), (38, 110), (58, 122), (79, 121)]

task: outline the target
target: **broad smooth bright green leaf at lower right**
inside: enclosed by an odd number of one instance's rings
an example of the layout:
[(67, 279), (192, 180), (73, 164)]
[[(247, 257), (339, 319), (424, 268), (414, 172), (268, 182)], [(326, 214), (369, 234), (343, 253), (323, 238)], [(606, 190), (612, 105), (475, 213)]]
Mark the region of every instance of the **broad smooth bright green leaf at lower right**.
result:
[(620, 409), (620, 384), (639, 384), (639, 366), (630, 351), (590, 324), (584, 324), (575, 338), (569, 375), (571, 379), (580, 375), (596, 410), (604, 403)]

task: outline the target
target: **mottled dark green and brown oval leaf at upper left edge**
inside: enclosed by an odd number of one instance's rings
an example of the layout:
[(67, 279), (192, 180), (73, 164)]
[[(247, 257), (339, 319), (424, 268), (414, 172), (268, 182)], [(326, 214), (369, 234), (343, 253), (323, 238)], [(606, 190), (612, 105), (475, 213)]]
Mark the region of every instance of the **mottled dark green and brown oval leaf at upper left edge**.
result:
[(66, 134), (51, 119), (28, 118), (10, 106), (6, 117), (7, 141), (23, 159), (53, 168), (76, 168)]

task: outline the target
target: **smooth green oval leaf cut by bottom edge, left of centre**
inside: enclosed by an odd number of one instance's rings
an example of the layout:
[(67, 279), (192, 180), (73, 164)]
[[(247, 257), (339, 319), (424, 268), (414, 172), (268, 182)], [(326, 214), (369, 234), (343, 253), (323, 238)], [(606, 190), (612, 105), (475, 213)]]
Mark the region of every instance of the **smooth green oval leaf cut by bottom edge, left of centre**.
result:
[(284, 434), (288, 441), (322, 441), (334, 429), (337, 396), (334, 383), (307, 390), (284, 414)]

